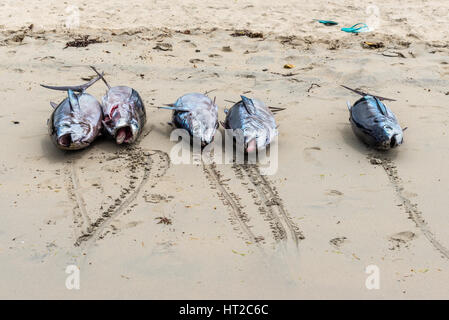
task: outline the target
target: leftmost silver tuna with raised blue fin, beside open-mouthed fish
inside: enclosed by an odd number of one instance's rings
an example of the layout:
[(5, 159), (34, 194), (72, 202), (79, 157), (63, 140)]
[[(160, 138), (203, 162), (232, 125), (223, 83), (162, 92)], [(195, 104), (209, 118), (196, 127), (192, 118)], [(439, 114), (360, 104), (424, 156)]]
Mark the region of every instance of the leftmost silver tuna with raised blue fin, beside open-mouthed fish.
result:
[[(63, 150), (78, 150), (89, 146), (101, 132), (103, 112), (101, 105), (85, 90), (101, 77), (81, 86), (53, 87), (47, 89), (67, 91), (68, 97), (59, 105), (50, 102), (54, 108), (47, 121), (48, 132), (55, 145)], [(76, 94), (74, 91), (78, 91)]]

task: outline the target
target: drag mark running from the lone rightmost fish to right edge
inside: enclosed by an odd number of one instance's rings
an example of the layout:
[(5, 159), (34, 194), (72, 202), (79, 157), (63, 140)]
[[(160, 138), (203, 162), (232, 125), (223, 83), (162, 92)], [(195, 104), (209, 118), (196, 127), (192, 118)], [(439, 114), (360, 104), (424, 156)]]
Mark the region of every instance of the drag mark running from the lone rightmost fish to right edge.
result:
[(380, 158), (378, 155), (369, 155), (368, 159), (373, 165), (381, 165), (382, 168), (387, 173), (390, 183), (393, 185), (397, 197), (401, 200), (402, 206), (405, 212), (409, 214), (409, 218), (416, 224), (416, 226), (421, 230), (424, 236), (429, 240), (435, 249), (437, 249), (443, 257), (449, 259), (449, 250), (444, 247), (436, 238), (435, 235), (430, 231), (427, 222), (422, 217), (422, 212), (418, 210), (418, 205), (410, 201), (404, 195), (404, 187), (402, 185), (402, 179), (398, 175), (398, 170), (396, 165), (391, 159)]

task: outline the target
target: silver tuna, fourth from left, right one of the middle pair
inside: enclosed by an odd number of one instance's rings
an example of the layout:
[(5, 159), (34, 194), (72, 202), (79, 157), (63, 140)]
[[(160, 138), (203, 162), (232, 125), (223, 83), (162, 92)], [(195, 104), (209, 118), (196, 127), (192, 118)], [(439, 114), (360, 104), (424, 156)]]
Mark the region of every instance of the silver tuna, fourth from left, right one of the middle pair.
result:
[(241, 130), (247, 152), (263, 150), (278, 135), (273, 113), (260, 100), (240, 97), (241, 101), (234, 104), (231, 109), (225, 109), (226, 120), (222, 125), (226, 129), (233, 129), (235, 137), (239, 134), (236, 130)]

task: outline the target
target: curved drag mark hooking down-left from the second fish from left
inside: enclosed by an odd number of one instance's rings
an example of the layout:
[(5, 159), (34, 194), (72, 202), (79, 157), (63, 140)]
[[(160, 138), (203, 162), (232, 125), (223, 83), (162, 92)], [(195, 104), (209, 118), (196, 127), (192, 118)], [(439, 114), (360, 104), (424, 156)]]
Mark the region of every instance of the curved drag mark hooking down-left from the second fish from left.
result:
[[(152, 150), (151, 152), (143, 151), (138, 146), (129, 146), (124, 150), (116, 152), (116, 156), (123, 158), (126, 165), (131, 171), (128, 188), (122, 188), (120, 197), (117, 198), (114, 204), (109, 208), (101, 212), (101, 216), (97, 220), (90, 224), (87, 230), (80, 236), (75, 242), (75, 246), (80, 246), (86, 242), (86, 246), (91, 242), (102, 239), (101, 232), (109, 226), (109, 222), (114, 218), (122, 214), (129, 205), (136, 199), (144, 185), (150, 180), (151, 177), (154, 182), (154, 187), (158, 179), (165, 175), (166, 171), (170, 167), (169, 156), (160, 150)], [(149, 160), (149, 161), (148, 161)], [(139, 183), (137, 183), (138, 177), (134, 174), (137, 168), (143, 167), (143, 177)], [(121, 200), (123, 199), (123, 200)]]

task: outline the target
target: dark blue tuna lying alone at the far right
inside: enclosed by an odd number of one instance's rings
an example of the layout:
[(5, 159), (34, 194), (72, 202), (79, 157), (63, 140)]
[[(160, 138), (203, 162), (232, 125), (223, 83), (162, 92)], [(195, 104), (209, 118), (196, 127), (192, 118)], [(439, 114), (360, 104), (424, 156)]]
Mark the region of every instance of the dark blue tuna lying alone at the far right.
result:
[(394, 113), (382, 103), (383, 100), (395, 100), (342, 87), (363, 96), (352, 107), (348, 102), (349, 121), (360, 140), (378, 150), (388, 150), (402, 144), (403, 129)]

